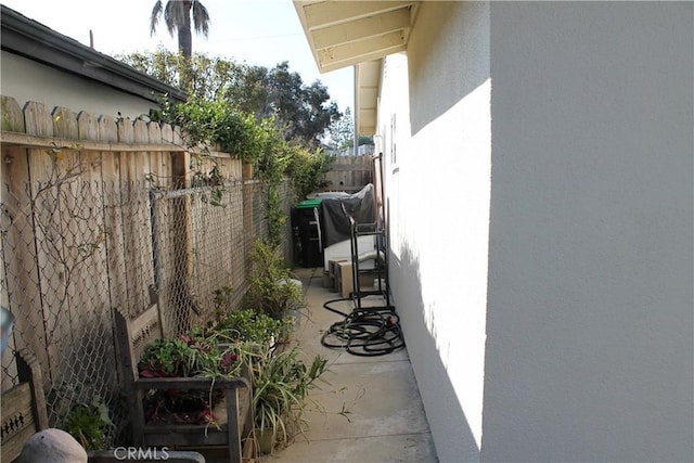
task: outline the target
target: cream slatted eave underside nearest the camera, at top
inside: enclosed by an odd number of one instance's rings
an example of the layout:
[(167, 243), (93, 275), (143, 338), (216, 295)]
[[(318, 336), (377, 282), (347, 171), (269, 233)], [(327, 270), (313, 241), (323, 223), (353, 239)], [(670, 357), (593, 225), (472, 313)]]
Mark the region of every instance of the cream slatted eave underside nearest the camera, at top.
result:
[(321, 73), (407, 48), (420, 1), (304, 1), (294, 8)]

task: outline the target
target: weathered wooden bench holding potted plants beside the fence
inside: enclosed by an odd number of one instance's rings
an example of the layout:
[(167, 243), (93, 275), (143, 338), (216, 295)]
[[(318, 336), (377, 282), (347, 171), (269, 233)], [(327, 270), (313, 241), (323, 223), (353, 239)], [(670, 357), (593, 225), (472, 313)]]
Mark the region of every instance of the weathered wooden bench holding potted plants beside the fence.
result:
[[(132, 443), (141, 447), (227, 447), (230, 462), (242, 462), (242, 438), (253, 426), (252, 389), (247, 377), (139, 377), (144, 348), (162, 338), (163, 321), (156, 304), (133, 320), (116, 311), (116, 340), (130, 410)], [(152, 389), (203, 389), (223, 393), (217, 425), (146, 423), (143, 396)], [(217, 410), (216, 410), (217, 412)]]

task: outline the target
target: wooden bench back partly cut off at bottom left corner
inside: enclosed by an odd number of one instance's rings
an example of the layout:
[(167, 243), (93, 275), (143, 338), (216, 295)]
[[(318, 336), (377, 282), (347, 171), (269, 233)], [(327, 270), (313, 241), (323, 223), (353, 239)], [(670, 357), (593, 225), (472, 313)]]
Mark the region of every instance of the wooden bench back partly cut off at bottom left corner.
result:
[(16, 355), (20, 383), (2, 393), (2, 461), (12, 462), (24, 442), (35, 433), (48, 428), (41, 366), (29, 350)]

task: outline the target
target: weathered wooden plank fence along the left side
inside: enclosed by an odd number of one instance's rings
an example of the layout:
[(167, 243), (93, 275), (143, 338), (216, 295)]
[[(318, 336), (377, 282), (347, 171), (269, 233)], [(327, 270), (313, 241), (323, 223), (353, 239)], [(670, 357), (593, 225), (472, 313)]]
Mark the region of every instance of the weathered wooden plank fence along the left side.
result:
[[(175, 335), (214, 317), (220, 291), (224, 305), (237, 303), (252, 242), (267, 233), (265, 189), (231, 154), (187, 151), (168, 125), (1, 104), (0, 304), (16, 318), (9, 350), (39, 358), (52, 424), (65, 403), (92, 395), (117, 421), (127, 411), (117, 410), (113, 310), (136, 316), (156, 294)], [(206, 184), (213, 167), (223, 184)], [(5, 353), (3, 390), (16, 381)]]

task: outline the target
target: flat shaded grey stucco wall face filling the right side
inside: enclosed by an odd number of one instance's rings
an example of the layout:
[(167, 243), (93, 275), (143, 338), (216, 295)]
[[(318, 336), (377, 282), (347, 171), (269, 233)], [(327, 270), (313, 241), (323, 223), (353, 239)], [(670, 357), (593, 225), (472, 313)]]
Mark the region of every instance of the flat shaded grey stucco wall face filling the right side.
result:
[(491, 4), (483, 461), (694, 461), (693, 30)]

